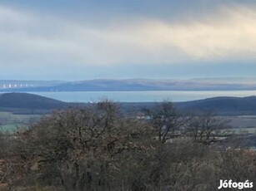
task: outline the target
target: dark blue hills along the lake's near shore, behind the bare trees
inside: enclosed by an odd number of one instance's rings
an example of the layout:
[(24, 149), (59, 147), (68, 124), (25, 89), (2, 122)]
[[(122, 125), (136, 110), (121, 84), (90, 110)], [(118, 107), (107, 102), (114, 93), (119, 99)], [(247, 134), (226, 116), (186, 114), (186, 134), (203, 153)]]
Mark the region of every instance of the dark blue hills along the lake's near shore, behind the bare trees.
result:
[[(48, 113), (50, 110), (86, 104), (88, 103), (68, 103), (28, 93), (0, 94), (0, 111)], [(173, 104), (178, 107), (178, 110), (185, 111), (212, 111), (219, 115), (256, 115), (256, 96), (243, 98), (214, 97), (204, 100), (174, 102)], [(134, 109), (139, 111), (144, 108), (152, 108), (155, 103), (120, 103), (120, 105), (124, 111)]]

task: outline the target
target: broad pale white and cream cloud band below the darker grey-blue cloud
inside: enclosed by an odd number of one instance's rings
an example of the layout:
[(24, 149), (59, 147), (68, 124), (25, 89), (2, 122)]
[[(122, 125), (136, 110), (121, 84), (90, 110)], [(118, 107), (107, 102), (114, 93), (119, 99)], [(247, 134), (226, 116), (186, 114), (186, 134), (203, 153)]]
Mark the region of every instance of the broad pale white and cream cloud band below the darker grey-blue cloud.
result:
[[(171, 15), (170, 15), (171, 17)], [(117, 17), (104, 24), (0, 5), (0, 65), (122, 66), (254, 61), (256, 7), (218, 6), (182, 21)]]

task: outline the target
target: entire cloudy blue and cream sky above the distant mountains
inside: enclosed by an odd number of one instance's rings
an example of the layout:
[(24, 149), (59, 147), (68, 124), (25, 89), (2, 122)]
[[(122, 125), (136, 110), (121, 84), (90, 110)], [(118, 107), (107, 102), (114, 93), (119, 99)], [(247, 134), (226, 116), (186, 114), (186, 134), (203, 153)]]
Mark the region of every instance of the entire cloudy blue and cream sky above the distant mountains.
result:
[(2, 80), (254, 77), (253, 0), (0, 0)]

